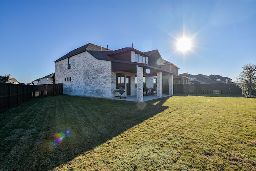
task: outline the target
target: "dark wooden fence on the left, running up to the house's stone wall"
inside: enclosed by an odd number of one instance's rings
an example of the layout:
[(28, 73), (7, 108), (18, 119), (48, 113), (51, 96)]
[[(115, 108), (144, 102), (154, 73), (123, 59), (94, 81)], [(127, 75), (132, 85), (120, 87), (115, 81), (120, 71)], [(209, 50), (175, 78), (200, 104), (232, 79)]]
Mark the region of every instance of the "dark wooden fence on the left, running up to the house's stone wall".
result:
[(0, 112), (18, 106), (33, 97), (63, 94), (63, 84), (20, 85), (0, 83)]

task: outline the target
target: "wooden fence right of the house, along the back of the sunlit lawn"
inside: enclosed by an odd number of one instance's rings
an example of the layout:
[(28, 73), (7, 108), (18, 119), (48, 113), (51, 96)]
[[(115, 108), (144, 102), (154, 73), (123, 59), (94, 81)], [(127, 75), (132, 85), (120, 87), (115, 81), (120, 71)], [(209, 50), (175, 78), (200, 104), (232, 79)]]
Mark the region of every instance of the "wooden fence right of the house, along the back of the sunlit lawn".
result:
[(183, 94), (242, 94), (242, 89), (234, 84), (174, 84), (173, 93)]

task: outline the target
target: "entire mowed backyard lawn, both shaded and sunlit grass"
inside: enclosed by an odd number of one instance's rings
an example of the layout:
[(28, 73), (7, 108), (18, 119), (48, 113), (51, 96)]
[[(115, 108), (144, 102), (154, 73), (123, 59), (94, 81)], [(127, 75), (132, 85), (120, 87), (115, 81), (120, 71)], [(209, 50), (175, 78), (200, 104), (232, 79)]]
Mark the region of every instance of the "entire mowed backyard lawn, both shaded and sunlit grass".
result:
[(0, 171), (256, 169), (256, 99), (59, 95), (0, 113)]

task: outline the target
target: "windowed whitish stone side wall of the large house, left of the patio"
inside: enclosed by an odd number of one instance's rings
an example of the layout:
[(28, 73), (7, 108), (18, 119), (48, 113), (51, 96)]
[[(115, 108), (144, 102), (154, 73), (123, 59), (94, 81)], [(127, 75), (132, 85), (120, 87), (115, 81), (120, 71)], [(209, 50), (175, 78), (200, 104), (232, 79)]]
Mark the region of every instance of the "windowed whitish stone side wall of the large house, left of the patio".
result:
[(55, 63), (56, 84), (63, 83), (64, 94), (112, 97), (111, 62), (97, 60), (88, 52), (77, 54), (70, 59), (70, 69), (68, 58)]

